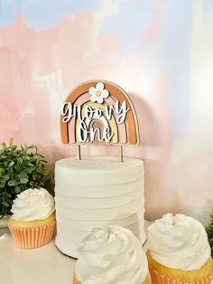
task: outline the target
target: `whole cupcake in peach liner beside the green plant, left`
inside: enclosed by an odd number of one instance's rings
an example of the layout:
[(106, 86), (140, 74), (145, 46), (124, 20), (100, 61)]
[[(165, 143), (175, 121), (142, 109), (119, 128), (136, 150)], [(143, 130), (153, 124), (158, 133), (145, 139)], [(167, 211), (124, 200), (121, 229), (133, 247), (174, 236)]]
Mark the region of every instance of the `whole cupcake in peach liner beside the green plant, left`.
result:
[(18, 194), (7, 225), (14, 245), (34, 249), (51, 241), (55, 233), (55, 205), (51, 194), (44, 188), (27, 189)]

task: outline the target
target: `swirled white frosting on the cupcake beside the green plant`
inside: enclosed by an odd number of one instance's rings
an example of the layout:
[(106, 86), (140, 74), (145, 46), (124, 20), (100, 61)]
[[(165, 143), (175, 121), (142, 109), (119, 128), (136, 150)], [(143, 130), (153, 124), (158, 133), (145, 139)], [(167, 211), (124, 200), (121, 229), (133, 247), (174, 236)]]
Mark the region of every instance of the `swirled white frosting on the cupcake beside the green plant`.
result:
[(46, 219), (54, 211), (54, 199), (44, 188), (29, 188), (18, 194), (11, 210), (14, 220), (26, 222)]

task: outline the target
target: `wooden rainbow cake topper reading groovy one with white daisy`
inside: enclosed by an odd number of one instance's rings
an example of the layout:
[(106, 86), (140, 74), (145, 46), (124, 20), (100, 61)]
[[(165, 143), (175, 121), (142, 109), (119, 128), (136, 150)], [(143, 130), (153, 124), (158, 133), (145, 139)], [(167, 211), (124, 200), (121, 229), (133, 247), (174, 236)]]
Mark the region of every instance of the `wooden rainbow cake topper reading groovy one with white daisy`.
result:
[(106, 80), (90, 80), (69, 93), (60, 113), (61, 140), (80, 145), (95, 140), (120, 146), (137, 145), (139, 130), (134, 106), (125, 90)]

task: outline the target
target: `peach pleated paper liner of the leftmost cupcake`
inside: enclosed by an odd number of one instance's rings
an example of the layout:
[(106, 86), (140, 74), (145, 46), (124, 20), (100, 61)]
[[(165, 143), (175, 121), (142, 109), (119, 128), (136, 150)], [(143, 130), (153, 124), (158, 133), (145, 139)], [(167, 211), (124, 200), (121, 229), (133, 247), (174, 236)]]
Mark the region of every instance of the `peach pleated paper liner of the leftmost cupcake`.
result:
[(35, 249), (42, 247), (52, 240), (55, 234), (56, 222), (32, 228), (18, 228), (8, 224), (14, 239), (14, 245), (22, 249)]

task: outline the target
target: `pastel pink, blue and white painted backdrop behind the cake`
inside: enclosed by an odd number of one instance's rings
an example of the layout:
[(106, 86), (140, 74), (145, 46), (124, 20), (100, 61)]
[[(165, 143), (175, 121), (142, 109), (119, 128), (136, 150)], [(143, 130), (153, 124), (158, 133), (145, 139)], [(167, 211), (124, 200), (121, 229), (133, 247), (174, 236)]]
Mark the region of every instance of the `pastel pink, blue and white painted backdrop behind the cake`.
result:
[[(0, 140), (60, 143), (61, 104), (84, 80), (115, 81), (131, 96), (144, 159), (146, 217), (213, 207), (212, 0), (0, 0)], [(116, 155), (117, 147), (83, 147)]]

